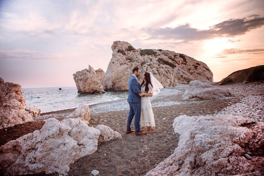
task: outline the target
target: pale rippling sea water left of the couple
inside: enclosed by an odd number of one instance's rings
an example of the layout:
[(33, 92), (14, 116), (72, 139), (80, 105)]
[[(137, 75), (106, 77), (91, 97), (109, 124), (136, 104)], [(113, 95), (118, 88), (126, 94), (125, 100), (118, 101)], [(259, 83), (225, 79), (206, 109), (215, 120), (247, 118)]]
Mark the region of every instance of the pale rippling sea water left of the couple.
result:
[[(61, 90), (59, 90), (61, 88)], [(41, 113), (77, 108), (82, 102), (88, 105), (126, 99), (126, 92), (106, 92), (105, 94), (79, 94), (77, 87), (23, 88), (27, 105), (37, 106)]]

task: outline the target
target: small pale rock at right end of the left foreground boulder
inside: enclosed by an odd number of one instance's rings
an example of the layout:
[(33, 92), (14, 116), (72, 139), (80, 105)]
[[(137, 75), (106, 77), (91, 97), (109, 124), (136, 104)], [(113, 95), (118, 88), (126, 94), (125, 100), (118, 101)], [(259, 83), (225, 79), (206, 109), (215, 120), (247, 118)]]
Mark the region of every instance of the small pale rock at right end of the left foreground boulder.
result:
[(101, 132), (98, 142), (105, 142), (113, 139), (122, 138), (119, 132), (112, 130), (109, 126), (97, 125), (96, 129), (100, 130)]

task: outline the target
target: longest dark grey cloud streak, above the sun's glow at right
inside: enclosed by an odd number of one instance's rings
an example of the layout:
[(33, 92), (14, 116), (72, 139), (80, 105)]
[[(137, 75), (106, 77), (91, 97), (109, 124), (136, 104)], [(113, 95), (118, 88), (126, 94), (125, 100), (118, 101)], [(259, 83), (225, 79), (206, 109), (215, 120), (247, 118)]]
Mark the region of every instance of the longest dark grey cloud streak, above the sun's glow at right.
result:
[[(191, 28), (189, 23), (176, 28), (142, 28), (150, 35), (149, 39), (176, 39), (184, 43), (219, 37), (235, 37), (264, 25), (264, 17), (251, 15), (241, 19), (229, 19), (213, 25), (208, 30)], [(232, 41), (231, 41), (232, 42)]]

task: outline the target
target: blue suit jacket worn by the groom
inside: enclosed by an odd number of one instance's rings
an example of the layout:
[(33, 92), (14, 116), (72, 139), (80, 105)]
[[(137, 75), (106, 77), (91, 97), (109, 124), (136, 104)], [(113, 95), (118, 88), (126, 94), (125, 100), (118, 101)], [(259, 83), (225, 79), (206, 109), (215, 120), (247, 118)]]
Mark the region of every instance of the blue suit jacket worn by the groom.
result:
[(141, 87), (137, 78), (133, 75), (128, 79), (128, 97), (127, 101), (131, 103), (141, 103)]

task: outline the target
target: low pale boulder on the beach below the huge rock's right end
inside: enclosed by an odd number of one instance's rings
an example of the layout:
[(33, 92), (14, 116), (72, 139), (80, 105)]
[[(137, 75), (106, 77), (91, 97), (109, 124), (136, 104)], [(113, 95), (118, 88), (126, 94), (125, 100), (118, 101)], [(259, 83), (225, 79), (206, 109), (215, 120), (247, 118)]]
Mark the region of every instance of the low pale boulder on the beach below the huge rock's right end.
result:
[(214, 87), (208, 83), (202, 83), (198, 80), (191, 81), (189, 88), (185, 90), (182, 95), (183, 100), (200, 100), (200, 99), (214, 99), (223, 96), (230, 96), (230, 90), (223, 90)]

